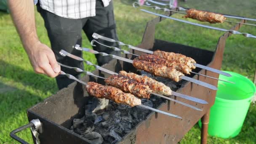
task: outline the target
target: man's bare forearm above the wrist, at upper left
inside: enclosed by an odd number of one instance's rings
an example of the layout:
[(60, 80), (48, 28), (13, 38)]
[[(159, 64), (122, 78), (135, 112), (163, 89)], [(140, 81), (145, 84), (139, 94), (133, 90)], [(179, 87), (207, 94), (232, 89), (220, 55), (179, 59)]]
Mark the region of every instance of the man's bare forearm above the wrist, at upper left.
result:
[(27, 52), (38, 43), (33, 0), (8, 0), (13, 23)]

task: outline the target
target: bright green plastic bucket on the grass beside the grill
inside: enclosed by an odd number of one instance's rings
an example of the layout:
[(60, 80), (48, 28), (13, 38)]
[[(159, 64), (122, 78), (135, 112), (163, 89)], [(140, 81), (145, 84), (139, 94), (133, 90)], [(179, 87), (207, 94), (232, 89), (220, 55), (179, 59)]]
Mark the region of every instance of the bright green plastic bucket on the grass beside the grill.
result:
[[(219, 79), (235, 84), (218, 82), (219, 90), (216, 93), (215, 103), (211, 107), (208, 134), (226, 139), (240, 133), (251, 99), (256, 93), (256, 87), (243, 75), (224, 72), (231, 74), (232, 77), (220, 75)], [(201, 121), (199, 125), (201, 127)]]

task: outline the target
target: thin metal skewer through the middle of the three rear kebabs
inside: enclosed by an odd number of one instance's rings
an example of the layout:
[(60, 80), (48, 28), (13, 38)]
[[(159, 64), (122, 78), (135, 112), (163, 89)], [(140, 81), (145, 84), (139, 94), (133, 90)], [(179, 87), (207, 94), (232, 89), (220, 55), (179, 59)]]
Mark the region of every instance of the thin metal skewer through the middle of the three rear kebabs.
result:
[[(93, 44), (94, 42), (99, 43), (97, 40), (92, 40), (92, 41), (91, 41), (91, 45), (95, 46), (95, 45)], [(104, 44), (102, 44), (102, 43), (99, 43), (99, 44), (100, 44), (100, 45), (104, 45)], [(106, 47), (108, 47), (108, 48), (112, 48), (112, 49), (114, 49), (115, 51), (122, 51), (122, 50), (120, 50), (120, 48), (116, 48), (116, 47), (112, 47), (112, 46), (108, 46), (108, 45), (104, 45), (104, 46), (106, 46)], [(80, 50), (80, 51), (83, 49), (83, 48), (81, 48), (79, 45), (75, 45), (74, 48), (76, 48), (77, 50)], [(127, 51), (126, 54), (133, 54), (133, 53), (130, 53), (130, 52)], [(133, 55), (138, 56), (138, 55), (136, 55), (136, 54), (133, 54)], [(220, 81), (224, 81), (224, 82), (227, 82), (227, 83), (233, 83), (233, 82), (229, 82), (229, 81), (227, 81), (227, 80), (221, 80), (221, 79), (218, 79), (218, 78), (215, 78), (215, 77), (210, 77), (210, 76), (208, 76), (208, 75), (199, 74), (199, 73), (197, 73), (197, 72), (191, 72), (191, 73), (196, 74), (196, 75), (202, 75), (202, 76), (204, 76), (204, 77), (209, 77), (209, 78), (214, 79), (214, 80), (220, 80)], [(233, 84), (234, 84), (234, 83), (233, 83)]]

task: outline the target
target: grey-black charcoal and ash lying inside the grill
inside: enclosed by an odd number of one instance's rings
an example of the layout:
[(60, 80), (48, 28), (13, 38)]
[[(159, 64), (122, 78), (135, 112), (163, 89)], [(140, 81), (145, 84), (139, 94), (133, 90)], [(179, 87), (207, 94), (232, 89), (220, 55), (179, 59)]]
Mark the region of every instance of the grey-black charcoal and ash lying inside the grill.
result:
[[(183, 83), (176, 83), (163, 77), (155, 77), (144, 71), (141, 71), (141, 75), (152, 77), (169, 86), (173, 91), (180, 88)], [(154, 95), (149, 100), (141, 99), (142, 104), (153, 108), (157, 108), (163, 102), (165, 102), (165, 99)], [(70, 129), (91, 140), (93, 144), (116, 144), (152, 112), (141, 107), (116, 104), (113, 101), (109, 101), (106, 109), (97, 114), (92, 113), (92, 109), (93, 102), (90, 101), (85, 105), (85, 116), (74, 119)]]

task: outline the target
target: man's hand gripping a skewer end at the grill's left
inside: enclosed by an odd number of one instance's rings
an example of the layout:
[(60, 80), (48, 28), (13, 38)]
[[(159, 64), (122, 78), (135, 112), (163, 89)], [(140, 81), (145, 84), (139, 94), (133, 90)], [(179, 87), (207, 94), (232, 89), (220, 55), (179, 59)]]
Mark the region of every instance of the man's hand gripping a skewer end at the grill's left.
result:
[(47, 45), (38, 41), (33, 48), (27, 49), (27, 53), (35, 72), (49, 77), (59, 75), (61, 67), (57, 63), (53, 51)]

